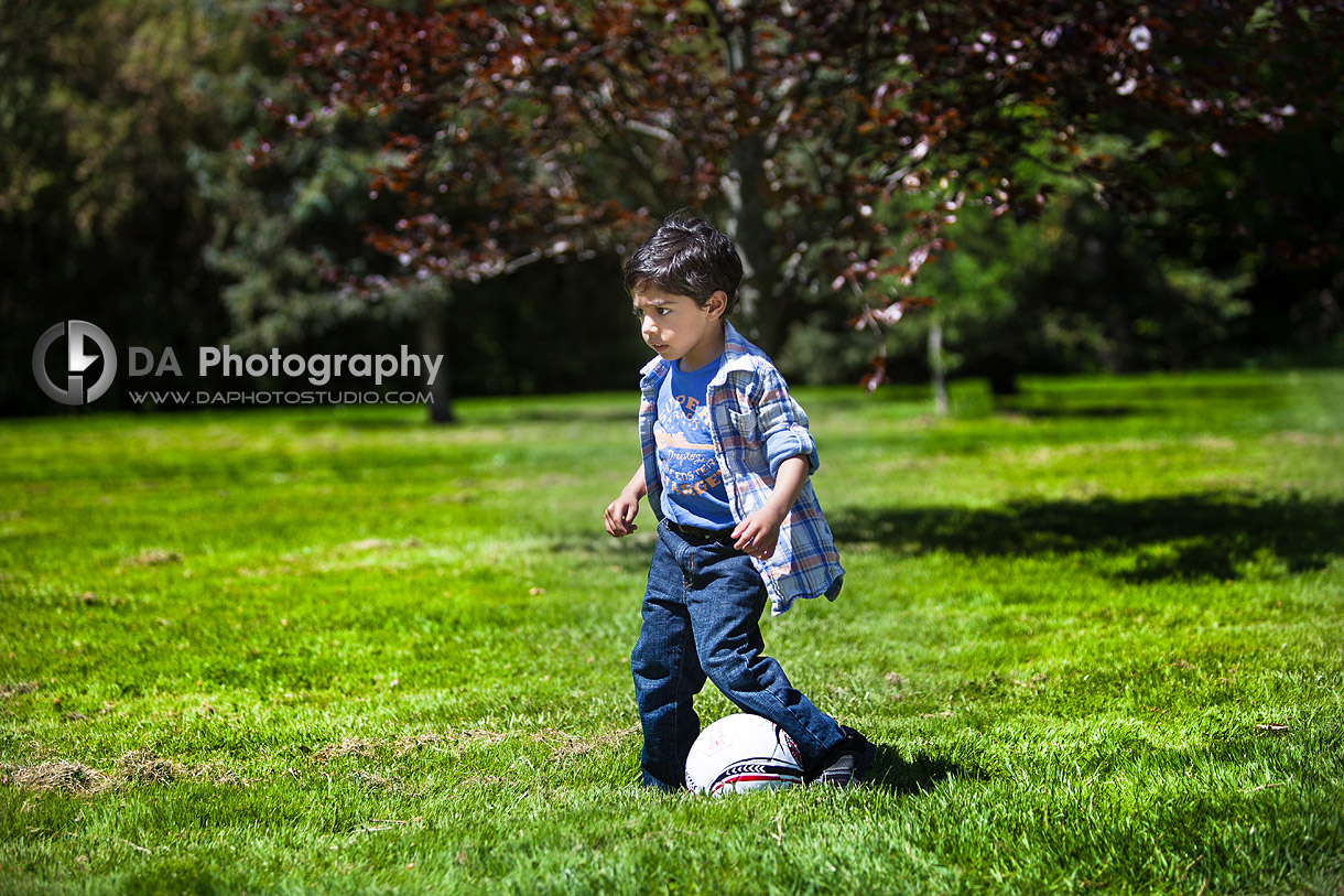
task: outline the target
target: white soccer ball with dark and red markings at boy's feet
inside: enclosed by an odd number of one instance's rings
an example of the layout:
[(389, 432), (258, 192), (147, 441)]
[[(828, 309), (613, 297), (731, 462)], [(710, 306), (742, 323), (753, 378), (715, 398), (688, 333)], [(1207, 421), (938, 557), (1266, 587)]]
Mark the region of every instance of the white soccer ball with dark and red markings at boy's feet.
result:
[(685, 786), (696, 794), (801, 783), (802, 753), (782, 728), (761, 716), (724, 716), (700, 732), (685, 759)]

